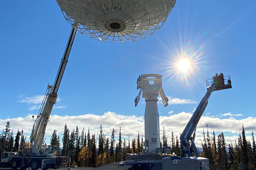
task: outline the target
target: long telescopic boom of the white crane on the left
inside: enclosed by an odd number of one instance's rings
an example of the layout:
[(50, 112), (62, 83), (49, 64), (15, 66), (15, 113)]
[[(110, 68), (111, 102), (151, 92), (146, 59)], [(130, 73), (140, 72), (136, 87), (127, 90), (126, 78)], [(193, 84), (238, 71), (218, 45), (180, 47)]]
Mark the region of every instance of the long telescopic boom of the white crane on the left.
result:
[[(44, 101), (41, 105), (40, 111), (38, 113), (37, 119), (35, 121), (35, 124), (33, 126), (33, 130), (31, 133), (31, 142), (32, 142), (32, 152), (37, 152), (36, 148), (38, 148), (40, 155), (44, 155), (45, 149), (42, 149), (43, 139), (45, 135), (45, 129), (47, 126), (47, 123), (49, 122), (50, 114), (52, 112), (53, 105), (57, 101), (57, 92), (60, 86), (61, 79), (63, 77), (63, 73), (65, 71), (68, 57), (70, 54), (71, 47), (73, 45), (75, 35), (77, 32), (78, 25), (75, 23), (72, 27), (65, 52), (63, 54), (63, 57), (61, 59), (61, 63), (59, 66), (59, 70), (57, 73), (57, 76), (55, 78), (53, 86), (48, 85)], [(34, 149), (36, 150), (34, 150)], [(34, 150), (34, 151), (33, 151)], [(36, 153), (38, 154), (38, 152)]]

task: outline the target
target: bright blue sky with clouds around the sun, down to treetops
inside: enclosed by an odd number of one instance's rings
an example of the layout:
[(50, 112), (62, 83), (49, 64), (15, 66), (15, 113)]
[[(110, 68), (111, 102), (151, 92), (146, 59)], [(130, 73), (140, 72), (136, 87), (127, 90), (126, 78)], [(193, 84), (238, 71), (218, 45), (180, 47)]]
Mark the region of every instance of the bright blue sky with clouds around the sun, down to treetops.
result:
[[(206, 93), (205, 80), (221, 72), (231, 75), (233, 88), (212, 93), (198, 131), (207, 122), (210, 131), (218, 128), (233, 140), (243, 123), (250, 135), (256, 129), (255, 16), (252, 0), (178, 0), (163, 27), (145, 40), (111, 44), (77, 33), (52, 111), (56, 122), (50, 119), (46, 136), (55, 127), (62, 134), (65, 123), (71, 129), (90, 127), (96, 133), (102, 124), (106, 134), (108, 128), (121, 126), (126, 137), (136, 136), (138, 129), (142, 133), (145, 102), (141, 97), (134, 107), (134, 99), (139, 92), (137, 77), (145, 73), (163, 75), (163, 89), (172, 103), (166, 108), (158, 105), (160, 129), (165, 126), (178, 135)], [(70, 31), (56, 1), (0, 2), (0, 119), (53, 68), (0, 121), (1, 129), (11, 121), (14, 131), (24, 128), (30, 134), (31, 115), (37, 115), (47, 83), (54, 83)], [(186, 75), (176, 67), (181, 57), (191, 62)], [(107, 114), (116, 117), (115, 123), (107, 121), (111, 117)]]

